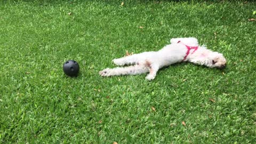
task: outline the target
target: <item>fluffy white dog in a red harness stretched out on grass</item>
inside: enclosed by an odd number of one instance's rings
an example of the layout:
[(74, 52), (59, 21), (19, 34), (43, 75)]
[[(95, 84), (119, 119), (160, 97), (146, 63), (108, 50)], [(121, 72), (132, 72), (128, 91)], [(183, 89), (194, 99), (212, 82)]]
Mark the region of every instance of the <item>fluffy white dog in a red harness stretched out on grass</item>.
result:
[(198, 65), (204, 65), (210, 68), (225, 68), (226, 59), (221, 53), (207, 50), (206, 47), (199, 46), (197, 39), (189, 38), (172, 38), (171, 44), (166, 45), (163, 49), (155, 52), (143, 52), (133, 54), (127, 57), (114, 59), (117, 66), (113, 69), (107, 68), (99, 72), (101, 76), (114, 75), (137, 75), (148, 73), (146, 79), (154, 79), (159, 69), (172, 65), (173, 63), (188, 61)]

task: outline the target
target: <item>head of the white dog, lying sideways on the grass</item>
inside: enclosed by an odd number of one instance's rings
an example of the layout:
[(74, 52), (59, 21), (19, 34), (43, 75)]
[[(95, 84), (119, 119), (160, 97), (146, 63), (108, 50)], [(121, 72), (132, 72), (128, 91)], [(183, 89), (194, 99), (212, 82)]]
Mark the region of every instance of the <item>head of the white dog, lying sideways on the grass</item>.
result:
[(223, 54), (218, 52), (213, 52), (209, 60), (207, 61), (207, 66), (211, 68), (223, 69), (226, 67), (226, 59)]

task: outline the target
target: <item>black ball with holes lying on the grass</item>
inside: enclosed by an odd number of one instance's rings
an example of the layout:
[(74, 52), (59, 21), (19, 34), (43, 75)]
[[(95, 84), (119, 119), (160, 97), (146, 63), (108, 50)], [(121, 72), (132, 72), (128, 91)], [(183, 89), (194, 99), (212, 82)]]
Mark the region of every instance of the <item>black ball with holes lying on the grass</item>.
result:
[(68, 60), (63, 64), (63, 71), (68, 76), (77, 76), (79, 72), (79, 65), (74, 60)]

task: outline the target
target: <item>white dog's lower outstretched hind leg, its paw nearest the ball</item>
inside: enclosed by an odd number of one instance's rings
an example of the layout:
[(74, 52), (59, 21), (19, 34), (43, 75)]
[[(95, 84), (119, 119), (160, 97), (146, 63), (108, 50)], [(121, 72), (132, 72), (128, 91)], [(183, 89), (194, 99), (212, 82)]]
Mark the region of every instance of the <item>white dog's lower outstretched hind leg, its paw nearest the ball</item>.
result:
[(101, 76), (138, 75), (147, 73), (149, 70), (143, 63), (129, 67), (106, 68), (99, 72)]

